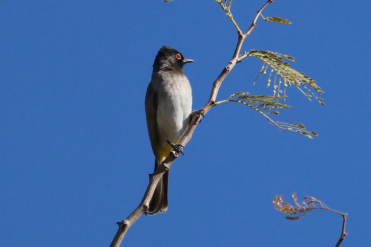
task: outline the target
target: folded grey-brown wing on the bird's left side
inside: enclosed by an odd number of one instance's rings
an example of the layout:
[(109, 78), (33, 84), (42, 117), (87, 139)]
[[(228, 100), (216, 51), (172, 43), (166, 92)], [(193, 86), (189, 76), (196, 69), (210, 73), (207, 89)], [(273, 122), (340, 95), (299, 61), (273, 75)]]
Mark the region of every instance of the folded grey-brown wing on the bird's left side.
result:
[(150, 136), (152, 151), (156, 157), (158, 157), (157, 103), (158, 96), (151, 82), (148, 85), (147, 93), (145, 94), (145, 116), (147, 118), (147, 128)]

